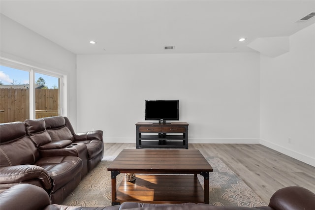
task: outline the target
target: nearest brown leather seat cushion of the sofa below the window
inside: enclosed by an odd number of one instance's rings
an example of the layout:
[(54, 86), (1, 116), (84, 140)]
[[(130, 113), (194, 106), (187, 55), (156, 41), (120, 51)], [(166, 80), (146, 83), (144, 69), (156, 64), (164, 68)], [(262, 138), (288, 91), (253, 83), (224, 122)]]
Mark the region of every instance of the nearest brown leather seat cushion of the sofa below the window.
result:
[(83, 167), (82, 160), (76, 156), (55, 156), (40, 158), (36, 165), (43, 167), (53, 182), (52, 192), (63, 187), (77, 174), (81, 174)]

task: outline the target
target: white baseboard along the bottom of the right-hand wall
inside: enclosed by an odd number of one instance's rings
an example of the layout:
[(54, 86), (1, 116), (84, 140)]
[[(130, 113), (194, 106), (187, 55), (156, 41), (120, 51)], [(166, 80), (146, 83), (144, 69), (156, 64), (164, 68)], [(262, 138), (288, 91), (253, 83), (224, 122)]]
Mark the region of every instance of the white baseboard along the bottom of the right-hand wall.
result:
[(300, 160), (304, 163), (307, 163), (311, 166), (314, 166), (315, 167), (315, 158), (314, 157), (310, 157), (308, 155), (305, 155), (305, 154), (302, 154), (302, 153), (299, 153), (297, 151), (293, 151), (293, 150), (290, 150), (290, 149), (287, 149), (287, 148), (284, 148), (280, 145), (276, 145), (272, 142), (269, 142), (269, 141), (266, 141), (266, 140), (263, 140), (263, 139), (260, 139), (260, 144), (263, 145), (263, 146), (266, 146), (270, 149), (273, 149), (273, 150), (276, 150), (276, 151), (279, 151), (285, 155), (288, 155), (294, 159), (297, 159), (297, 160)]

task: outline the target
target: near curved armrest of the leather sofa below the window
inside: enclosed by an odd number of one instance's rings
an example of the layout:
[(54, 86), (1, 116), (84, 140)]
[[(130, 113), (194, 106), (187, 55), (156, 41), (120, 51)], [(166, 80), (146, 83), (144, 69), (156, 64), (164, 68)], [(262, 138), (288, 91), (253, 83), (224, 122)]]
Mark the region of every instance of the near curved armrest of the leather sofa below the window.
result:
[(47, 171), (36, 165), (16, 165), (0, 167), (0, 183), (20, 183), (27, 180), (40, 180), (45, 189), (50, 189), (52, 184)]

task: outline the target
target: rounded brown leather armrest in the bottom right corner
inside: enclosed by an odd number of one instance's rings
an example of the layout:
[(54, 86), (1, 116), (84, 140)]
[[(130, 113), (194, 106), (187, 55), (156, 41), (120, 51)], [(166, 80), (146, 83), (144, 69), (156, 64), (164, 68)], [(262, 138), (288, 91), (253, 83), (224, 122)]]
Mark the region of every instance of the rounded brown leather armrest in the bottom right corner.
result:
[(271, 196), (269, 207), (275, 210), (314, 210), (315, 194), (303, 187), (284, 187)]

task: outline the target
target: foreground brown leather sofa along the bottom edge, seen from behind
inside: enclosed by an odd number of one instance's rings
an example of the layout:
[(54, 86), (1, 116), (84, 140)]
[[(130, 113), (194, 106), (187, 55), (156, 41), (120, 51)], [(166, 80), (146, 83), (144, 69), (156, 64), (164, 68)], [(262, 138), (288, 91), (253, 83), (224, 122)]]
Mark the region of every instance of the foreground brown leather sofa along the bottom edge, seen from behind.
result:
[(247, 208), (211, 206), (207, 204), (145, 204), (125, 202), (109, 207), (69, 207), (51, 204), (40, 187), (31, 184), (15, 185), (0, 193), (0, 210), (314, 210), (315, 194), (298, 186), (276, 191), (265, 207)]

